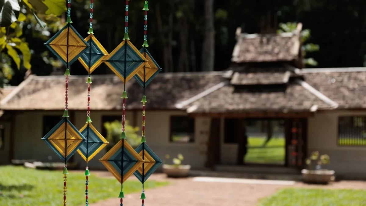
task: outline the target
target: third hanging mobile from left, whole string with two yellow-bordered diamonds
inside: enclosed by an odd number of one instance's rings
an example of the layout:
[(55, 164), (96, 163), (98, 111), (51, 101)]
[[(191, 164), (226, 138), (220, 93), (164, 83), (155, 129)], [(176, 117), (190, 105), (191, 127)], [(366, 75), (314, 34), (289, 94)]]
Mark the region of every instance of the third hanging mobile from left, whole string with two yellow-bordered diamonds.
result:
[(107, 154), (99, 159), (109, 172), (121, 183), (119, 194), (120, 206), (123, 206), (123, 182), (128, 179), (143, 163), (141, 156), (127, 143), (125, 133), (126, 118), (126, 82), (130, 80), (148, 62), (138, 49), (129, 41), (128, 37), (128, 0), (126, 0), (125, 33), (120, 43), (104, 61), (124, 85), (122, 94), (122, 133), (120, 141)]

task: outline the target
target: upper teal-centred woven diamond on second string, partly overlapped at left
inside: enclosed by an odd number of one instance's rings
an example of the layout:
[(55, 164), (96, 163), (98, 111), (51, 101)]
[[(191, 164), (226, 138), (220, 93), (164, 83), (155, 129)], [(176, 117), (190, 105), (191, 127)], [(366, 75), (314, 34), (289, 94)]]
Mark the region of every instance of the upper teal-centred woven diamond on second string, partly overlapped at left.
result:
[(89, 46), (89, 49), (86, 49), (86, 51), (79, 57), (79, 62), (90, 74), (102, 63), (102, 59), (108, 55), (108, 52), (93, 34), (86, 37), (85, 41)]

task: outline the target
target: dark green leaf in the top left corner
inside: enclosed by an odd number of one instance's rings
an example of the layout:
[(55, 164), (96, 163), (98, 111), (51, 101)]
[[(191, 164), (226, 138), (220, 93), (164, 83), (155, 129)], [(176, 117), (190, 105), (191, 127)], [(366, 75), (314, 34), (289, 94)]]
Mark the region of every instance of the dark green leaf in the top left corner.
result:
[(0, 0), (0, 27), (8, 27), (19, 17), (18, 0)]

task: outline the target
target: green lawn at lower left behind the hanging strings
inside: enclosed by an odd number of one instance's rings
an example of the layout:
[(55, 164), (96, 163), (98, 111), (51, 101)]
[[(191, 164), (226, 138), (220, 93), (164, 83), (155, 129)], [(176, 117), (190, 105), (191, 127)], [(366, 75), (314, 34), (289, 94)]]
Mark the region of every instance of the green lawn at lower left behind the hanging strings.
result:
[[(67, 205), (85, 205), (85, 176), (69, 171), (67, 175)], [(121, 185), (116, 179), (89, 176), (89, 203), (117, 197)], [(168, 182), (146, 181), (145, 188), (160, 187)], [(127, 180), (124, 194), (141, 192), (141, 183)], [(0, 205), (59, 206), (63, 203), (62, 171), (26, 169), (21, 166), (0, 166)]]

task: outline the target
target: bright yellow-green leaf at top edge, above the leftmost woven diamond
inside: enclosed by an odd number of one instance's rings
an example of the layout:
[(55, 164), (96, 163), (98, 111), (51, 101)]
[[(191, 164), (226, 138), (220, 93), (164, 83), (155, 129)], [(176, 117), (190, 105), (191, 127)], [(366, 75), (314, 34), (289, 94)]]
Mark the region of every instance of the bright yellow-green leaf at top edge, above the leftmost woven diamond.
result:
[(43, 14), (59, 16), (67, 11), (65, 0), (23, 0), (30, 4), (34, 10)]

